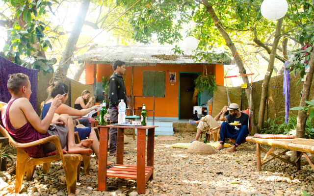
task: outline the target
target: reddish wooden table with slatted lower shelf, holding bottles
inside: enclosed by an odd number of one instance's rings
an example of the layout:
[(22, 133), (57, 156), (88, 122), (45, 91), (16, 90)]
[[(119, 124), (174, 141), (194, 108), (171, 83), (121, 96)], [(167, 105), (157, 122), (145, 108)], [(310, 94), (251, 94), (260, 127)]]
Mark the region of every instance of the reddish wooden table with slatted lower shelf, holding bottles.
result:
[[(117, 158), (116, 165), (107, 169), (107, 146), (109, 128), (118, 128), (117, 136)], [(98, 191), (106, 191), (107, 177), (119, 177), (136, 179), (137, 193), (145, 194), (145, 184), (149, 179), (153, 179), (154, 173), (154, 142), (155, 127), (157, 126), (115, 126), (99, 125), (100, 128), (100, 152), (98, 166)], [(123, 146), (124, 146), (124, 129), (137, 128), (137, 162), (136, 165), (123, 164)], [(145, 166), (145, 146), (146, 146), (146, 129), (147, 137), (147, 164)]]

